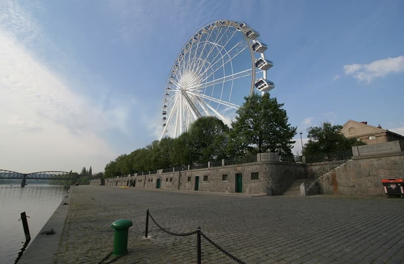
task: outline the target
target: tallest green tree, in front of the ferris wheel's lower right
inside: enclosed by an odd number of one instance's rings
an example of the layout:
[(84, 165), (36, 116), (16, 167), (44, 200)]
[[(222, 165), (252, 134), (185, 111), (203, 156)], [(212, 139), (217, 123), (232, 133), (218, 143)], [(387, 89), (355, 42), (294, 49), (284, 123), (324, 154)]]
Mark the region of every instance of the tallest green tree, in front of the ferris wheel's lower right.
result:
[(243, 155), (247, 151), (291, 153), (296, 127), (288, 124), (282, 107), (283, 103), (270, 98), (269, 93), (245, 97), (230, 130), (229, 154)]

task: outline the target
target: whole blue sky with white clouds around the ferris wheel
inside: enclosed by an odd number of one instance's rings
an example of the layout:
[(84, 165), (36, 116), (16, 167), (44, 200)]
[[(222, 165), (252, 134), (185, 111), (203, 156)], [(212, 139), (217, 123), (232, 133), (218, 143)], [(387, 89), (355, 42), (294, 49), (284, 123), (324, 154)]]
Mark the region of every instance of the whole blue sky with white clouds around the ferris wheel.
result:
[(324, 121), (404, 134), (403, 11), (402, 1), (4, 0), (0, 169), (103, 171), (156, 140), (178, 52), (219, 19), (260, 32), (271, 96), (304, 142)]

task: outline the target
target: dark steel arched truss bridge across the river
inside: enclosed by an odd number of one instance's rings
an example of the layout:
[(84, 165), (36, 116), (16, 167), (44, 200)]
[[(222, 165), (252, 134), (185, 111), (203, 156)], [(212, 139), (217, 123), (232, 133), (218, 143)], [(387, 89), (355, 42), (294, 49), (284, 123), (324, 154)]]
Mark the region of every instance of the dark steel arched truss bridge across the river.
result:
[(81, 175), (78, 173), (46, 171), (33, 173), (19, 173), (7, 170), (0, 170), (0, 179), (20, 179), (21, 187), (25, 186), (26, 180), (78, 180)]

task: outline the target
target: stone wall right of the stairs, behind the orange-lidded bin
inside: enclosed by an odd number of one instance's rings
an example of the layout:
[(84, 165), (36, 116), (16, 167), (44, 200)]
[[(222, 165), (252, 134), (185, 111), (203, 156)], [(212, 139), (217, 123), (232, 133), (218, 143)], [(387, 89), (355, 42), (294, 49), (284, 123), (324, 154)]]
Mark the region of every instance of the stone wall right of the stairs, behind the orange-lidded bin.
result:
[(404, 152), (357, 156), (320, 178), (324, 194), (385, 196), (382, 179), (404, 178)]

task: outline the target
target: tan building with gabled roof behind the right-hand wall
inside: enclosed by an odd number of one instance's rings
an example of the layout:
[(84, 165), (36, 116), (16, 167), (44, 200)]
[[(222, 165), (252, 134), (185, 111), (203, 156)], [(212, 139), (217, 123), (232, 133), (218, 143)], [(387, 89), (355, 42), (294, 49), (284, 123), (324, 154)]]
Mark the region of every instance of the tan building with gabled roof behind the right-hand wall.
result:
[(368, 145), (394, 140), (404, 140), (404, 136), (383, 129), (381, 125), (374, 127), (368, 125), (368, 122), (357, 122), (354, 120), (348, 120), (342, 126), (341, 132), (347, 138), (356, 137)]

